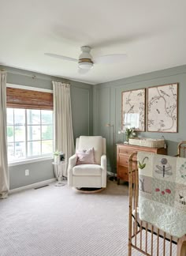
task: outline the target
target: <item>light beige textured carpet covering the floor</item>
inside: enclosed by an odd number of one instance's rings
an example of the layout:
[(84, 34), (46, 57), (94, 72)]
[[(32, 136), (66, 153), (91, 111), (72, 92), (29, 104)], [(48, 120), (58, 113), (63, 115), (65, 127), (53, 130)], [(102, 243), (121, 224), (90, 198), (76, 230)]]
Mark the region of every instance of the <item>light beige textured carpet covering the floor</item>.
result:
[(51, 183), (11, 194), (0, 201), (0, 255), (127, 256), (128, 186), (80, 194)]

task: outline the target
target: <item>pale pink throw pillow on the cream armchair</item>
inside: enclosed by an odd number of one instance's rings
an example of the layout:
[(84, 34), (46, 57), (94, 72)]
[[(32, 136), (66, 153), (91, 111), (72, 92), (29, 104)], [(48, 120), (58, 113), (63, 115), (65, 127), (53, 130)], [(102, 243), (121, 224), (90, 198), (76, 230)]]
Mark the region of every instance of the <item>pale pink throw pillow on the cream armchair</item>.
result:
[(95, 149), (83, 149), (76, 151), (77, 161), (76, 165), (79, 164), (95, 164)]

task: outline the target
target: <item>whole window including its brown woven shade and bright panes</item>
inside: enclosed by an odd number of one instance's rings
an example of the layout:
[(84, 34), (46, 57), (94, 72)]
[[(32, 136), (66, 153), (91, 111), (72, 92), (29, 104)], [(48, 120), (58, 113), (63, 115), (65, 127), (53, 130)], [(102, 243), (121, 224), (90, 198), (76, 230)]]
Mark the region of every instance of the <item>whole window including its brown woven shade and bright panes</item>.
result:
[(6, 88), (9, 162), (53, 152), (53, 93), (22, 85)]

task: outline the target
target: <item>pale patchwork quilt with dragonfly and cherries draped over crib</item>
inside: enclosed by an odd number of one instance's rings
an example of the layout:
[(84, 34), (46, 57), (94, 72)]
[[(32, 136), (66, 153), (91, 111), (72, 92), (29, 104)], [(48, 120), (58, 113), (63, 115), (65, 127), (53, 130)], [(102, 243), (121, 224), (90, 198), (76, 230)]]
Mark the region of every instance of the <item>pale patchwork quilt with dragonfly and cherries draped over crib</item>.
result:
[(186, 159), (138, 152), (139, 219), (169, 235), (186, 234)]

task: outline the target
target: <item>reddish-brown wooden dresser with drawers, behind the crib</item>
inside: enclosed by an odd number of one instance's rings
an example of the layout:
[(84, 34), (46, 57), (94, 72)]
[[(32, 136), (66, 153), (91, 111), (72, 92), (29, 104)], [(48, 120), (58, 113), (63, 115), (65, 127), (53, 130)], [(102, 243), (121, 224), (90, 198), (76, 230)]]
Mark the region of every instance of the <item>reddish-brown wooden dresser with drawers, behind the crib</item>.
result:
[(128, 158), (132, 152), (146, 151), (156, 154), (167, 154), (167, 149), (148, 148), (136, 145), (117, 144), (117, 184), (120, 184), (120, 179), (128, 182)]

